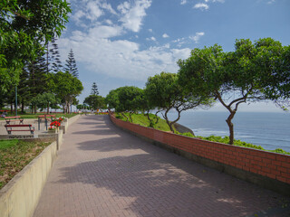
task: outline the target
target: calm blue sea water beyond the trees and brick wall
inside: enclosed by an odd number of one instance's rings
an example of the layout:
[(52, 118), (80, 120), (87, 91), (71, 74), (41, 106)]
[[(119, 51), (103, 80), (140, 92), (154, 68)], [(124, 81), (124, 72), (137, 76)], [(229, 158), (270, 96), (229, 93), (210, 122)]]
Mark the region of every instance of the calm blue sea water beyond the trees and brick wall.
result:
[[(185, 111), (179, 124), (189, 127), (196, 136), (228, 136), (227, 112)], [(169, 118), (176, 118), (170, 113)], [(233, 119), (235, 138), (263, 146), (267, 150), (282, 148), (290, 152), (290, 113), (237, 112)]]

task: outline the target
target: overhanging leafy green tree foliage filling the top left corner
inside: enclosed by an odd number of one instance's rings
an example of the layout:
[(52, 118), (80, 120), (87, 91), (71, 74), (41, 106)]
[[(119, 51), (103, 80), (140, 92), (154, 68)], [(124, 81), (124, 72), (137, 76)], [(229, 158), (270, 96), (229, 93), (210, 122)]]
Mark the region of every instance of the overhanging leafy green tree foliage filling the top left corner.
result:
[(34, 60), (42, 42), (61, 35), (71, 9), (62, 0), (0, 2), (0, 91), (19, 82), (25, 60)]

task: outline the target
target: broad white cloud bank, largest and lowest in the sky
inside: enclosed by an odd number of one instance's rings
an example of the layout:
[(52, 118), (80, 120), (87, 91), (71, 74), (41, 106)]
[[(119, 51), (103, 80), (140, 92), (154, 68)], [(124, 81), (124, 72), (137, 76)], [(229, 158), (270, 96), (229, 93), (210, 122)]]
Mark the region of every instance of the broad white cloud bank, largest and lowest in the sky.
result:
[[(73, 32), (71, 38), (61, 38), (61, 55), (67, 56), (72, 48), (76, 60), (88, 71), (111, 78), (145, 81), (161, 71), (177, 72), (176, 61), (188, 58), (190, 54), (189, 48), (170, 49), (169, 43), (140, 50), (140, 45), (136, 42), (103, 38), (120, 33), (118, 28), (98, 28), (89, 33)], [(100, 33), (101, 31), (106, 31), (106, 35), (102, 35), (104, 33)]]

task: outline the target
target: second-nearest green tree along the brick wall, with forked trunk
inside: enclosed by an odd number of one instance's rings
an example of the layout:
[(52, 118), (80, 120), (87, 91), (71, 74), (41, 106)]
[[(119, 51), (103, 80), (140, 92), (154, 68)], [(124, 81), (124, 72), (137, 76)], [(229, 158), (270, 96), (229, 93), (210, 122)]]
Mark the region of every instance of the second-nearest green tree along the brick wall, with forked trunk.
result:
[[(181, 112), (187, 109), (197, 109), (211, 106), (213, 100), (208, 95), (196, 95), (193, 92), (185, 92), (179, 85), (178, 75), (169, 72), (161, 72), (150, 77), (146, 83), (147, 96), (151, 105), (164, 110), (163, 118), (172, 132), (173, 125), (179, 121)], [(175, 109), (178, 117), (170, 121), (168, 113)]]

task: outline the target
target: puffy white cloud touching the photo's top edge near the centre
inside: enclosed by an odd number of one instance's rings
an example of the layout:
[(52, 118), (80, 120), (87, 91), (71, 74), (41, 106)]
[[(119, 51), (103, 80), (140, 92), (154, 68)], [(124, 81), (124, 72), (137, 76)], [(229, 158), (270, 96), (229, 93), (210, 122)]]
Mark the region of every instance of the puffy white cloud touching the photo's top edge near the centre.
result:
[(129, 2), (124, 2), (118, 5), (118, 10), (121, 12), (121, 23), (126, 29), (138, 33), (142, 20), (146, 16), (145, 10), (150, 7), (151, 0), (137, 0), (134, 5)]

